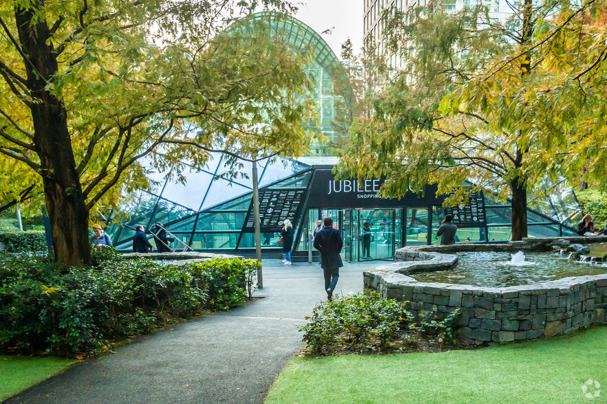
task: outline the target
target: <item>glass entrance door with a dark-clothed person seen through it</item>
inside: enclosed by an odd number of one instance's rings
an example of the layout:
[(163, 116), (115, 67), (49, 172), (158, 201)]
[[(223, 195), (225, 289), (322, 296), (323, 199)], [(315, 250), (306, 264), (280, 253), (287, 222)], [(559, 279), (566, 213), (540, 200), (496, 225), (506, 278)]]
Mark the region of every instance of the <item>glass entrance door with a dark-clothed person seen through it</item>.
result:
[(394, 209), (359, 211), (359, 261), (394, 260)]

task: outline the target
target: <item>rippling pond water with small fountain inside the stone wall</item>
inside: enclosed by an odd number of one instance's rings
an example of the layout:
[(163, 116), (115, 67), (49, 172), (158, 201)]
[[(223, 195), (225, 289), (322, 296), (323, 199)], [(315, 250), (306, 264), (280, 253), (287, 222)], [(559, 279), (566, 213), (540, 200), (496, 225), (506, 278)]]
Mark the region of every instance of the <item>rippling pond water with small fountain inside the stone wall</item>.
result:
[(607, 264), (591, 264), (569, 260), (557, 253), (524, 253), (519, 256), (505, 252), (460, 252), (458, 264), (448, 271), (418, 272), (412, 276), (419, 282), (471, 284), (480, 287), (509, 287), (567, 278), (568, 276), (607, 273)]

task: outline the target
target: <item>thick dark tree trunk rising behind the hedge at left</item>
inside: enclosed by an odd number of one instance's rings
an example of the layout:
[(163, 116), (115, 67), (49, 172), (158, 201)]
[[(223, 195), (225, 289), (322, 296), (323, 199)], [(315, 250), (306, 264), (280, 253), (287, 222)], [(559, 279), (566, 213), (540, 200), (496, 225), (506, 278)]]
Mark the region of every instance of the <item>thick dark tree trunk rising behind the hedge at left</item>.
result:
[(65, 265), (88, 265), (88, 211), (72, 150), (67, 113), (54, 93), (45, 89), (58, 71), (51, 33), (43, 14), (43, 3), (32, 1), (28, 9), (15, 8), (15, 21), (28, 72), (32, 96), (34, 145), (40, 158), (46, 211), (52, 229), (55, 259)]

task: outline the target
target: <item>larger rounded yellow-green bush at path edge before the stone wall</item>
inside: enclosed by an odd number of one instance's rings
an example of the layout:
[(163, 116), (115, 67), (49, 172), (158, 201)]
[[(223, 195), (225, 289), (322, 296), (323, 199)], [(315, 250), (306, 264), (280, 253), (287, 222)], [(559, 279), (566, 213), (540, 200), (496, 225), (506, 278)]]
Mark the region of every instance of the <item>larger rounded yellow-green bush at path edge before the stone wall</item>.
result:
[(313, 352), (321, 353), (336, 344), (356, 344), (374, 339), (385, 349), (394, 341), (399, 328), (407, 328), (411, 314), (405, 309), (407, 302), (383, 300), (372, 292), (357, 293), (314, 308), (308, 324), (300, 326), (304, 341)]

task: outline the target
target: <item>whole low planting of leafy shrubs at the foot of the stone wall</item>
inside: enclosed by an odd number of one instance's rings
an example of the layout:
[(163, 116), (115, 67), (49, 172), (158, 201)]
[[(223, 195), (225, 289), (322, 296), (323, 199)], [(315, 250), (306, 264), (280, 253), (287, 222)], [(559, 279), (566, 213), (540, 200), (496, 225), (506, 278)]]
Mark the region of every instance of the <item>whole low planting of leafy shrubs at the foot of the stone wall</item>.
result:
[(439, 319), (434, 313), (414, 319), (407, 302), (381, 299), (376, 292), (336, 296), (314, 308), (300, 326), (308, 344), (304, 355), (438, 351), (465, 346), (456, 341), (458, 311)]

